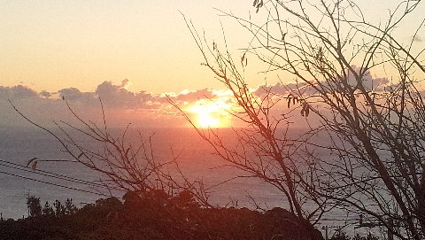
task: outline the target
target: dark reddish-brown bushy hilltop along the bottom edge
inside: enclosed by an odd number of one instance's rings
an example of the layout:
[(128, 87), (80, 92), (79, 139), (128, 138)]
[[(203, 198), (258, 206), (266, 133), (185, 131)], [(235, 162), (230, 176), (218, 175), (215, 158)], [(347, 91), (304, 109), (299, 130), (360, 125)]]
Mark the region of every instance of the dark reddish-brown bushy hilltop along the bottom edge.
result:
[(37, 218), (0, 221), (0, 239), (310, 239), (302, 221), (282, 208), (205, 208), (189, 191), (170, 196), (138, 190), (123, 198), (124, 203), (99, 199), (81, 209), (71, 199), (54, 208), (46, 203)]

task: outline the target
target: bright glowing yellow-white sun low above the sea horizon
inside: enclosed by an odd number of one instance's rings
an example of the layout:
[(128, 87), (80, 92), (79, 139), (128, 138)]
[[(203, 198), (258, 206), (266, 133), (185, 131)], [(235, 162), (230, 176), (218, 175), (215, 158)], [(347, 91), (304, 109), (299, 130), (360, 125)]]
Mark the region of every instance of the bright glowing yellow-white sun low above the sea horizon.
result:
[(230, 105), (224, 101), (198, 100), (189, 107), (189, 112), (193, 113), (197, 119), (197, 128), (226, 128), (230, 123), (228, 110)]

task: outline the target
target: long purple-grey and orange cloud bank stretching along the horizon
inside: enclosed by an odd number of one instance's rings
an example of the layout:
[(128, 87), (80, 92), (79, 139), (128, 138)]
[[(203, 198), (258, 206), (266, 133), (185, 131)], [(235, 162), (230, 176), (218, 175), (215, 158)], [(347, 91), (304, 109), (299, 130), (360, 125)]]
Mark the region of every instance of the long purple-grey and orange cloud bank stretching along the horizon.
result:
[[(353, 81), (353, 79), (350, 79)], [(367, 74), (364, 78), (367, 88), (377, 88), (388, 83), (386, 78), (376, 78)], [(143, 127), (162, 126), (185, 126), (182, 114), (170, 105), (166, 95), (154, 95), (147, 91), (131, 91), (131, 84), (127, 79), (119, 83), (103, 81), (92, 91), (82, 92), (77, 88), (59, 89), (57, 92), (42, 90), (40, 92), (23, 85), (14, 87), (0, 86), (0, 100), (13, 99), (13, 103), (19, 106), (28, 116), (32, 116), (37, 122), (49, 123), (53, 120), (71, 120), (72, 115), (66, 115), (67, 109), (62, 97), (73, 107), (75, 112), (85, 120), (101, 120), (100, 98), (104, 104), (104, 112), (108, 126), (126, 126), (129, 122)], [(261, 85), (258, 89), (251, 89), (257, 96), (265, 96), (271, 93), (276, 97), (286, 97), (292, 91), (301, 89), (305, 95), (313, 94), (312, 88), (307, 88), (305, 83), (282, 83), (273, 85)], [(207, 105), (210, 102), (220, 101), (221, 104), (235, 106), (235, 99), (228, 90), (198, 89), (184, 90), (180, 93), (168, 93), (167, 96), (174, 104), (187, 111), (193, 105)], [(284, 105), (284, 102), (282, 103)], [(12, 125), (17, 122), (19, 116), (13, 112), (7, 101), (0, 102), (0, 107), (12, 117), (0, 120), (0, 125)], [(286, 109), (286, 108), (285, 108)], [(276, 114), (282, 113), (280, 106), (275, 108)], [(3, 113), (3, 112), (2, 112)], [(69, 112), (68, 112), (69, 113)], [(275, 113), (275, 112), (274, 112)], [(68, 117), (66, 117), (68, 116)]]

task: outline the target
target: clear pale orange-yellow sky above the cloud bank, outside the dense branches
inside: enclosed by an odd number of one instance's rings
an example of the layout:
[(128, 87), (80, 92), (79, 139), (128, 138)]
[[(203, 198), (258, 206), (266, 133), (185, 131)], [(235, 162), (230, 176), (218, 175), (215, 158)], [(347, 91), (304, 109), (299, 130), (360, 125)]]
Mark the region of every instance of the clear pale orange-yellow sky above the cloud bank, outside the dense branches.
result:
[[(383, 0), (356, 2), (366, 6), (371, 19), (394, 6)], [(417, 12), (425, 12), (423, 5)], [(220, 18), (214, 7), (261, 17), (248, 0), (0, 1), (0, 85), (89, 91), (102, 81), (129, 79), (130, 89), (154, 93), (220, 88), (200, 66), (199, 51), (179, 12), (204, 28), (212, 41), (221, 37), (221, 20), (228, 43), (239, 54), (236, 49), (247, 47), (249, 35), (235, 20)], [(256, 72), (251, 68), (253, 86), (265, 81)]]

